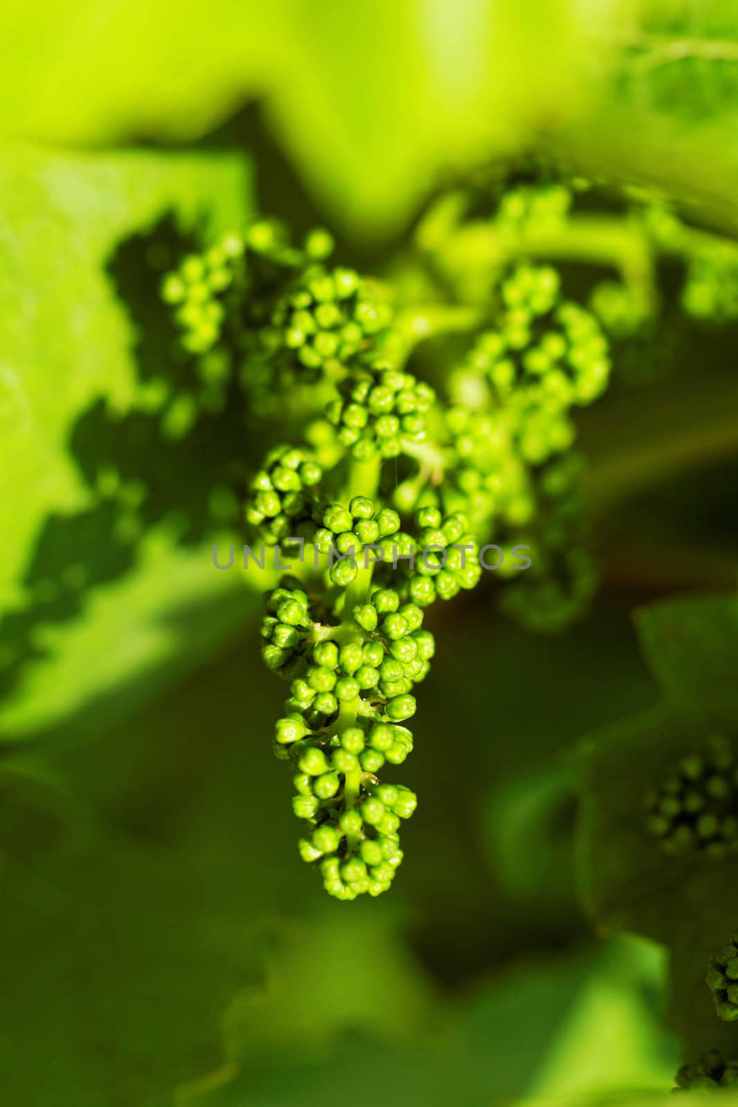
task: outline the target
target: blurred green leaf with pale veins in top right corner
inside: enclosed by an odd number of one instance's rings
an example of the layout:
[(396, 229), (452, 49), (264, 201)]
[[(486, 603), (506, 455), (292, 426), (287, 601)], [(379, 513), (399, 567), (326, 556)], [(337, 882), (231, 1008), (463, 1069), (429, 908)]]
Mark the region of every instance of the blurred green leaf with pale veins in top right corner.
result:
[(594, 28), (612, 84), (597, 110), (543, 136), (564, 163), (638, 180), (699, 221), (738, 229), (738, 15), (731, 0), (638, 0)]

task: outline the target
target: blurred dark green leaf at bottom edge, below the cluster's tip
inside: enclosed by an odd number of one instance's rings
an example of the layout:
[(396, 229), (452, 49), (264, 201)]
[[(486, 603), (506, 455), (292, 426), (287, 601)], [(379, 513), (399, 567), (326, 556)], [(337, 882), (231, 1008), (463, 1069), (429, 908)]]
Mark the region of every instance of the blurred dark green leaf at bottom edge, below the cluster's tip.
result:
[(548, 958), (532, 973), (514, 968), (448, 1004), (408, 960), (396, 923), (372, 914), (358, 923), (326, 917), (312, 935), (295, 932), (270, 991), (251, 991), (229, 1010), (225, 1063), (183, 1085), (178, 1107), (319, 1107), (346, 1087), (356, 1107), (371, 1107), (377, 1079), (392, 1103), (429, 1107), (481, 1107), (529, 1088), (591, 956)]

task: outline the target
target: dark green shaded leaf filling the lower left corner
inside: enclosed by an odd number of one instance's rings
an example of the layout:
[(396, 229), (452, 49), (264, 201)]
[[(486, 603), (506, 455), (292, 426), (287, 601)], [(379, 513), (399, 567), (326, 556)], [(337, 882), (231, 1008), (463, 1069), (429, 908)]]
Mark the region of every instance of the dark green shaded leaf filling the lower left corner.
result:
[(95, 743), (6, 751), (3, 1101), (170, 1107), (217, 1064), (274, 920), (323, 904), (269, 748), (279, 687), (261, 683), (235, 649)]

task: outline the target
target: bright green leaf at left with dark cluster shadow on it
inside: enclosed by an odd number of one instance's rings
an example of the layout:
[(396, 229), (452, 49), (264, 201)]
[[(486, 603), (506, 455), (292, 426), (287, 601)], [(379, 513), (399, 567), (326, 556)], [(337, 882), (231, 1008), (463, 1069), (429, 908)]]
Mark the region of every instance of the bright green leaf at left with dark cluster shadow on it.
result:
[[(200, 421), (210, 437), (196, 428), (198, 468), (185, 478), (183, 448), (163, 435), (162, 413), (147, 401), (153, 384), (174, 400), (179, 387), (167, 335), (147, 324), (163, 315), (157, 284), (167, 250), (198, 230), (241, 223), (249, 193), (239, 157), (7, 152), (0, 170), (6, 741), (53, 727), (92, 701), (100, 705), (114, 687), (123, 707), (128, 677), (150, 694), (160, 666), (178, 658), (181, 672), (248, 611), (238, 570), (216, 572), (209, 548), (198, 546), (209, 532), (209, 482), (221, 472), (212, 442), (225, 441), (222, 425)], [(230, 603), (233, 596), (243, 602)], [(110, 711), (98, 712), (91, 722), (98, 727), (107, 717)]]

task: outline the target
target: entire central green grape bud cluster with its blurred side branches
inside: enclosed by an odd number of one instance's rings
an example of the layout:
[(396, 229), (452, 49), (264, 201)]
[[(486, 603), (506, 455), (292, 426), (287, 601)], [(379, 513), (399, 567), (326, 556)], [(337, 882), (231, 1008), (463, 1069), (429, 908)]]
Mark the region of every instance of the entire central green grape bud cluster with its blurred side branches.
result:
[[(497, 218), (516, 235), (543, 232), (570, 200), (522, 187)], [(580, 537), (571, 411), (602, 393), (610, 360), (558, 272), (521, 263), (445, 404), (408, 371), (391, 296), (330, 268), (331, 250), (324, 231), (295, 247), (257, 220), (185, 258), (163, 296), (183, 348), (200, 365), (220, 359), (251, 410), (281, 395), (309, 413), (310, 446), (268, 452), (245, 518), (295, 573), (267, 594), (262, 659), (289, 685), (273, 749), (293, 772), (300, 852), (331, 894), (353, 899), (389, 886), (401, 820), (416, 806), (377, 774), (413, 749), (407, 724), (435, 650), (425, 610), (474, 589), (521, 540), (538, 559), (528, 590), (510, 584), (514, 563), (499, 577), (536, 624), (555, 621), (552, 610), (561, 624), (586, 591), (579, 546), (569, 548)]]

